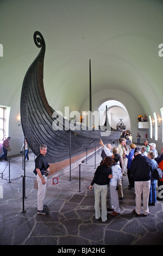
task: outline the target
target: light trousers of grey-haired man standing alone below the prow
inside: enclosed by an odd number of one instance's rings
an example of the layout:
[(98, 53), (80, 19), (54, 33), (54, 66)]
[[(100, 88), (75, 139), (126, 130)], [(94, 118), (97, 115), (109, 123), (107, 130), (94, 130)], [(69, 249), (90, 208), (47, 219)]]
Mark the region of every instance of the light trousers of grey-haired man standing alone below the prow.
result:
[(37, 210), (42, 211), (43, 210), (43, 199), (45, 198), (46, 194), (46, 185), (47, 185), (47, 176), (42, 175), (43, 179), (45, 179), (46, 184), (42, 184), (42, 180), (39, 177), (39, 175), (36, 175), (37, 178), (37, 185), (38, 185), (38, 191), (37, 191)]

